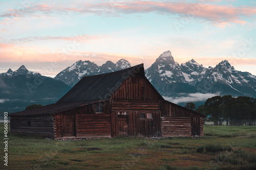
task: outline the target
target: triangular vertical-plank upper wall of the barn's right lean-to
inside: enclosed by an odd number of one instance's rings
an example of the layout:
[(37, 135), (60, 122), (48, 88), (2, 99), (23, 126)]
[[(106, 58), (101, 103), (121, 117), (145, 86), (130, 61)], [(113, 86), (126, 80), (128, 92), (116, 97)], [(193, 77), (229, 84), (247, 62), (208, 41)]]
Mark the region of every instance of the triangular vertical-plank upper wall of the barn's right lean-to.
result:
[(201, 117), (199, 114), (165, 101), (160, 101), (162, 117)]

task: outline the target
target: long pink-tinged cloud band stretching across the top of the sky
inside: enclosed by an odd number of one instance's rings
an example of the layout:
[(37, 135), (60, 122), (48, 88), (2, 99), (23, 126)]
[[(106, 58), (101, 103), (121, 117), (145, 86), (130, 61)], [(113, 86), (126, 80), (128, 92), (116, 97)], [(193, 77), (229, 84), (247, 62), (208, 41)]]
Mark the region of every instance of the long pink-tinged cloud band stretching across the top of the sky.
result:
[(143, 14), (156, 12), (161, 15), (178, 15), (179, 17), (191, 16), (205, 21), (213, 22), (218, 27), (225, 27), (232, 23), (244, 24), (247, 17), (256, 14), (256, 7), (184, 2), (153, 2), (153, 1), (129, 1), (110, 3), (87, 3), (74, 4), (67, 7), (62, 4), (55, 6), (36, 4), (22, 11), (9, 9), (0, 14), (0, 17), (22, 17), (22, 16), (55, 16), (69, 15), (71, 13), (82, 15), (104, 15), (120, 16), (127, 14)]

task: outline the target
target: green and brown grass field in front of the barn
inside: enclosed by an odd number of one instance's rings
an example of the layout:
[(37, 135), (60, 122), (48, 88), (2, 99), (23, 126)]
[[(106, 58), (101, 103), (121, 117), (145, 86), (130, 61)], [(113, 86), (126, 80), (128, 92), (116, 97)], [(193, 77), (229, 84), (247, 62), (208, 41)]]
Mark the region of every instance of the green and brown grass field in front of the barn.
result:
[(256, 169), (256, 127), (205, 126), (203, 137), (47, 140), (9, 133), (0, 169)]

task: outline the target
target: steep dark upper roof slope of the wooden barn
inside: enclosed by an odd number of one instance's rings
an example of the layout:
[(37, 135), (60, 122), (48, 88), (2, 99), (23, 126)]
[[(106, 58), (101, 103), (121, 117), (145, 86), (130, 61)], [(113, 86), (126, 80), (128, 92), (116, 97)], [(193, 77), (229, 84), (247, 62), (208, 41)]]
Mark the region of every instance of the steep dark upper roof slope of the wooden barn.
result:
[(108, 99), (124, 80), (138, 73), (145, 76), (143, 63), (106, 74), (85, 76), (57, 103)]

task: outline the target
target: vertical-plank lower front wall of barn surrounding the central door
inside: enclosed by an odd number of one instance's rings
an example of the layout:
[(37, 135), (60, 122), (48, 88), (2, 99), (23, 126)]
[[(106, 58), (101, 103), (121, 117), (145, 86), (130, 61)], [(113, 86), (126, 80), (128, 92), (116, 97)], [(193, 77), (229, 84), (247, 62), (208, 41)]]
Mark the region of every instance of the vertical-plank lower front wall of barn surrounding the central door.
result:
[[(152, 118), (139, 118), (139, 113), (152, 113)], [(132, 137), (153, 137), (161, 136), (160, 113), (158, 111), (113, 111), (111, 114), (111, 135), (118, 136), (118, 114), (127, 115), (128, 120), (128, 135)]]

